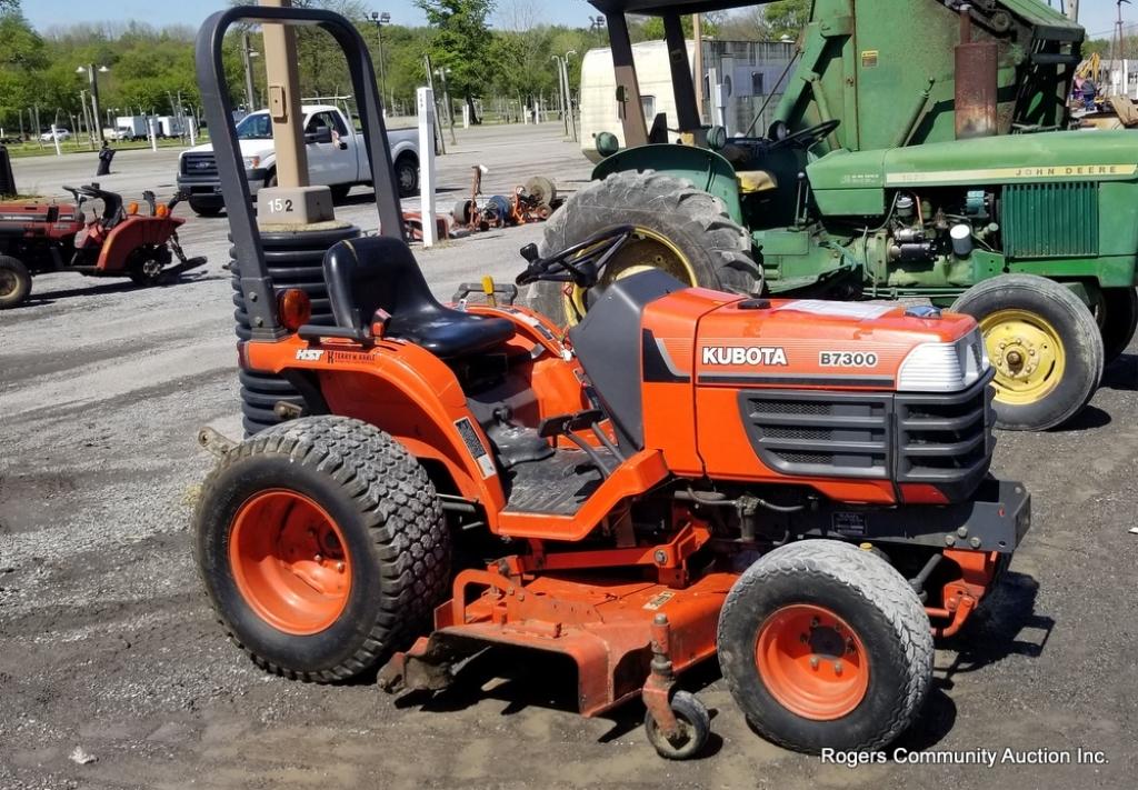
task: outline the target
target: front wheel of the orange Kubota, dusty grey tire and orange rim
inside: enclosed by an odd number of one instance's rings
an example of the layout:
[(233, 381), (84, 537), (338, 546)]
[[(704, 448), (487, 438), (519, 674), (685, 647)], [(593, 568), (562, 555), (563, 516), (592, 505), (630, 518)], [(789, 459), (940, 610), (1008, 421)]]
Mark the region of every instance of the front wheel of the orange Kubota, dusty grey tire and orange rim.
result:
[(719, 666), (768, 740), (872, 751), (917, 717), (932, 683), (929, 617), (885, 560), (839, 541), (775, 549), (735, 582)]

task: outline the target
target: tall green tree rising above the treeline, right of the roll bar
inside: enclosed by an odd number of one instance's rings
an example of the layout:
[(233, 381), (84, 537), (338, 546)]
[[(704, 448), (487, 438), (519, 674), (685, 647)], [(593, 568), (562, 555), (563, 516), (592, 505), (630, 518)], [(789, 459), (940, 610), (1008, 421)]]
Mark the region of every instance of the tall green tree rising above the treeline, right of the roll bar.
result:
[(434, 28), (430, 41), (431, 60), (436, 68), (446, 69), (447, 87), (470, 107), (471, 123), (481, 123), (475, 98), (483, 94), (490, 52), (487, 17), (494, 11), (494, 0), (415, 0)]

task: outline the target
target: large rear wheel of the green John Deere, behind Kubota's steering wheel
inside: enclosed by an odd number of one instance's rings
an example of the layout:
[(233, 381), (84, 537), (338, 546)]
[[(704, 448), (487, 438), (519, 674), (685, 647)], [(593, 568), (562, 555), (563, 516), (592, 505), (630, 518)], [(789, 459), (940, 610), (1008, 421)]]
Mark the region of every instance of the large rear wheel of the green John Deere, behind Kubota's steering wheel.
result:
[[(552, 255), (616, 225), (636, 234), (611, 260), (595, 288), (648, 269), (735, 294), (757, 294), (762, 270), (751, 257), (751, 237), (723, 200), (681, 179), (645, 171), (612, 173), (569, 198), (545, 225), (541, 254)], [(574, 286), (535, 282), (521, 301), (555, 323), (572, 326), (592, 297)]]

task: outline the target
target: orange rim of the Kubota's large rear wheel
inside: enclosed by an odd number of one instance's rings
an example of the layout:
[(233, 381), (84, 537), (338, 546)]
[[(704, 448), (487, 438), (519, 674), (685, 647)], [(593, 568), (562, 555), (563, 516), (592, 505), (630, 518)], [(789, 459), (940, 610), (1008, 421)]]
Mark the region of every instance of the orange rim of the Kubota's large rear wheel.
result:
[(335, 623), (352, 591), (352, 560), (328, 511), (295, 491), (249, 497), (237, 511), (229, 561), (241, 596), (273, 627), (320, 633)]

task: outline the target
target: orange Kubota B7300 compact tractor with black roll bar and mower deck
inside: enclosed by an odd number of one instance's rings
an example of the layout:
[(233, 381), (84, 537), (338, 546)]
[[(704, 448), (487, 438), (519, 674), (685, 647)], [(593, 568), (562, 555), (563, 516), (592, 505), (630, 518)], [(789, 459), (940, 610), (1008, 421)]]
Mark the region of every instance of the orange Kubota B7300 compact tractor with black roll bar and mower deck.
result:
[[(487, 645), (570, 657), (579, 710), (633, 699), (669, 758), (706, 743), (679, 673), (718, 655), (783, 746), (874, 749), (908, 727), (938, 635), (959, 631), (1028, 529), (989, 475), (991, 368), (973, 319), (934, 308), (745, 298), (649, 271), (567, 337), (509, 304), (436, 302), (398, 236), (324, 257), (335, 326), (274, 298), (220, 90), (236, 19), (320, 24), (344, 47), (381, 227), (399, 233), (371, 61), (316, 10), (211, 17), (197, 63), (253, 337), (240, 364), (304, 406), (233, 443), (195, 516), (233, 641), (259, 666), (443, 689)], [(229, 130), (228, 133), (225, 130)], [(617, 228), (520, 283), (595, 286)], [(475, 559), (470, 559), (470, 558)]]

